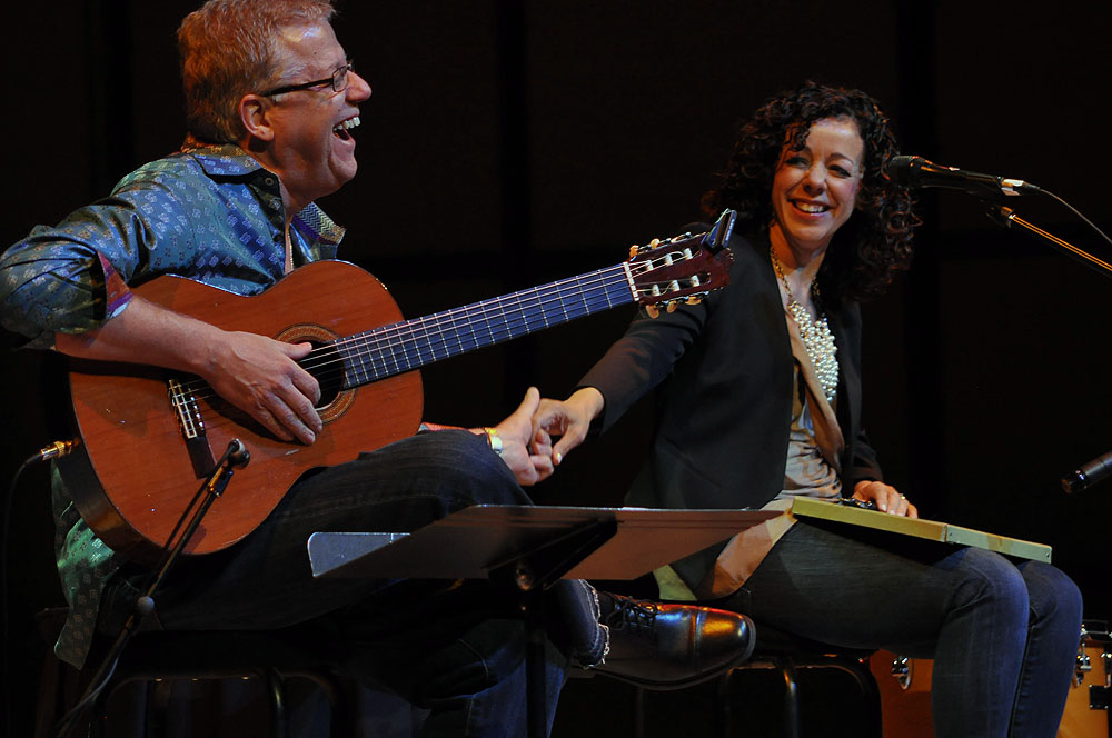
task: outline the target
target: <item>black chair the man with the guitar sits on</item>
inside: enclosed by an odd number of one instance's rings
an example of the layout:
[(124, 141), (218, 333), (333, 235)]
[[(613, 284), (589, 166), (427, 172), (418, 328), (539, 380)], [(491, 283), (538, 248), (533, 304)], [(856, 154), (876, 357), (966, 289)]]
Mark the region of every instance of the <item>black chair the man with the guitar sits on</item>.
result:
[[(64, 608), (40, 612), (39, 630), (52, 646), (64, 621)], [(141, 682), (142, 735), (168, 734), (170, 694), (176, 680), (258, 679), (269, 706), (269, 725), (245, 735), (288, 736), (287, 681), (308, 679), (318, 687), (330, 708), (330, 735), (337, 738), (356, 735), (355, 685), (340, 667), (342, 645), (316, 624), (270, 631), (146, 631), (128, 642), (103, 690), (93, 701), (85, 721), (90, 734), (110, 731), (109, 716), (113, 697), (128, 685)], [(91, 671), (93, 667), (89, 667)], [(52, 654), (44, 661), (36, 738), (52, 735), (58, 720), (85, 691), (90, 674), (78, 672)], [(132, 716), (131, 722), (135, 722)], [(264, 720), (266, 722), (266, 720)], [(82, 735), (75, 730), (72, 735)]]

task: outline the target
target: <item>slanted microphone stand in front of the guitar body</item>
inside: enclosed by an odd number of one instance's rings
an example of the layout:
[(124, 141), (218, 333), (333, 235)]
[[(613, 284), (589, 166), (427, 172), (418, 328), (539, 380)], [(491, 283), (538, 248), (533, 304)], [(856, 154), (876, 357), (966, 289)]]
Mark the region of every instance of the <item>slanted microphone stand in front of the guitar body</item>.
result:
[[(195, 495), (193, 499), (191, 499), (189, 505), (186, 506), (185, 511), (181, 513), (181, 518), (170, 532), (170, 537), (166, 541), (165, 546), (167, 554), (162, 558), (162, 565), (158, 568), (157, 574), (151, 578), (151, 581), (147, 586), (143, 594), (136, 599), (135, 609), (130, 615), (128, 615), (128, 619), (123, 622), (123, 627), (120, 629), (119, 636), (117, 636), (116, 641), (112, 644), (111, 648), (108, 649), (108, 654), (106, 654), (105, 658), (101, 660), (100, 667), (89, 681), (89, 686), (86, 688), (85, 694), (81, 695), (81, 699), (78, 700), (77, 705), (75, 705), (73, 708), (59, 721), (58, 729), (54, 731), (54, 736), (57, 738), (67, 738), (67, 736), (72, 732), (73, 728), (78, 724), (77, 718), (88, 710), (88, 708), (92, 705), (92, 701), (108, 685), (108, 680), (116, 671), (116, 666), (120, 660), (120, 656), (123, 654), (123, 648), (128, 645), (128, 641), (131, 640), (131, 636), (135, 635), (136, 629), (142, 620), (155, 611), (155, 590), (157, 590), (159, 585), (162, 584), (162, 580), (170, 571), (170, 568), (177, 562), (181, 552), (186, 549), (186, 545), (189, 543), (193, 533), (197, 532), (197, 528), (200, 526), (201, 520), (205, 519), (205, 515), (208, 512), (209, 508), (212, 507), (212, 502), (215, 502), (218, 497), (224, 495), (224, 490), (231, 480), (231, 476), (235, 473), (235, 470), (237, 468), (246, 467), (250, 460), (251, 455), (238, 438), (232, 439), (231, 442), (228, 443), (228, 449), (217, 462), (216, 468), (201, 483), (200, 489), (197, 490), (197, 495)], [(199, 505), (198, 501), (200, 502)], [(183, 531), (179, 538), (178, 531), (182, 530), (182, 528)], [(177, 541), (175, 542), (176, 538)]]

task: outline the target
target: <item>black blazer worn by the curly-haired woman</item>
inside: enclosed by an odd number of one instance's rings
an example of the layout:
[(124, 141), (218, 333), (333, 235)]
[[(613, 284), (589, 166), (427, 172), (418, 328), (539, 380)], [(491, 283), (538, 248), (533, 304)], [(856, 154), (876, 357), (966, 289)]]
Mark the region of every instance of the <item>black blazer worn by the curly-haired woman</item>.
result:
[[(638, 317), (580, 380), (606, 400), (605, 431), (658, 385), (652, 450), (626, 502), (663, 508), (759, 508), (780, 493), (792, 421), (793, 357), (768, 241), (735, 236), (731, 283), (697, 306)], [(824, 302), (840, 363), (842, 483), (882, 479), (861, 429), (861, 311)], [(674, 565), (697, 585), (725, 543)]]

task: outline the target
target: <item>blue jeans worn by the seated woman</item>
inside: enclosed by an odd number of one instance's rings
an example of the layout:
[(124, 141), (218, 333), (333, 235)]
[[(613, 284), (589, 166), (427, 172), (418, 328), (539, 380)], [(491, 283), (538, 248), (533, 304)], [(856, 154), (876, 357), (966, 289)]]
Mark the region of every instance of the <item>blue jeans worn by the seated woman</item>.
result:
[(758, 642), (764, 621), (835, 646), (933, 658), (937, 736), (1056, 734), (1082, 619), (1069, 577), (977, 548), (897, 554), (892, 539), (843, 532), (795, 525), (727, 605), (753, 617)]

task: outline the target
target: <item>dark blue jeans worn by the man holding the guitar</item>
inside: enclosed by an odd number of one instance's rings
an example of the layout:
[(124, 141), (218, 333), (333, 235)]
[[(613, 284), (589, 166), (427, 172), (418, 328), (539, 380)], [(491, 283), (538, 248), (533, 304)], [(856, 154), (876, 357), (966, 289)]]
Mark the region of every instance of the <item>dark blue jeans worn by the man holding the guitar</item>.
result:
[[(358, 676), (430, 710), (423, 736), (524, 736), (526, 635), (512, 594), (488, 582), (317, 580), (306, 554), (315, 531), (407, 532), (476, 503), (530, 501), (485, 438), (407, 438), (312, 473), (242, 541), (182, 560), (156, 595), (159, 619), (173, 630), (327, 620), (350, 640)], [(549, 726), (566, 662), (549, 644)]]

